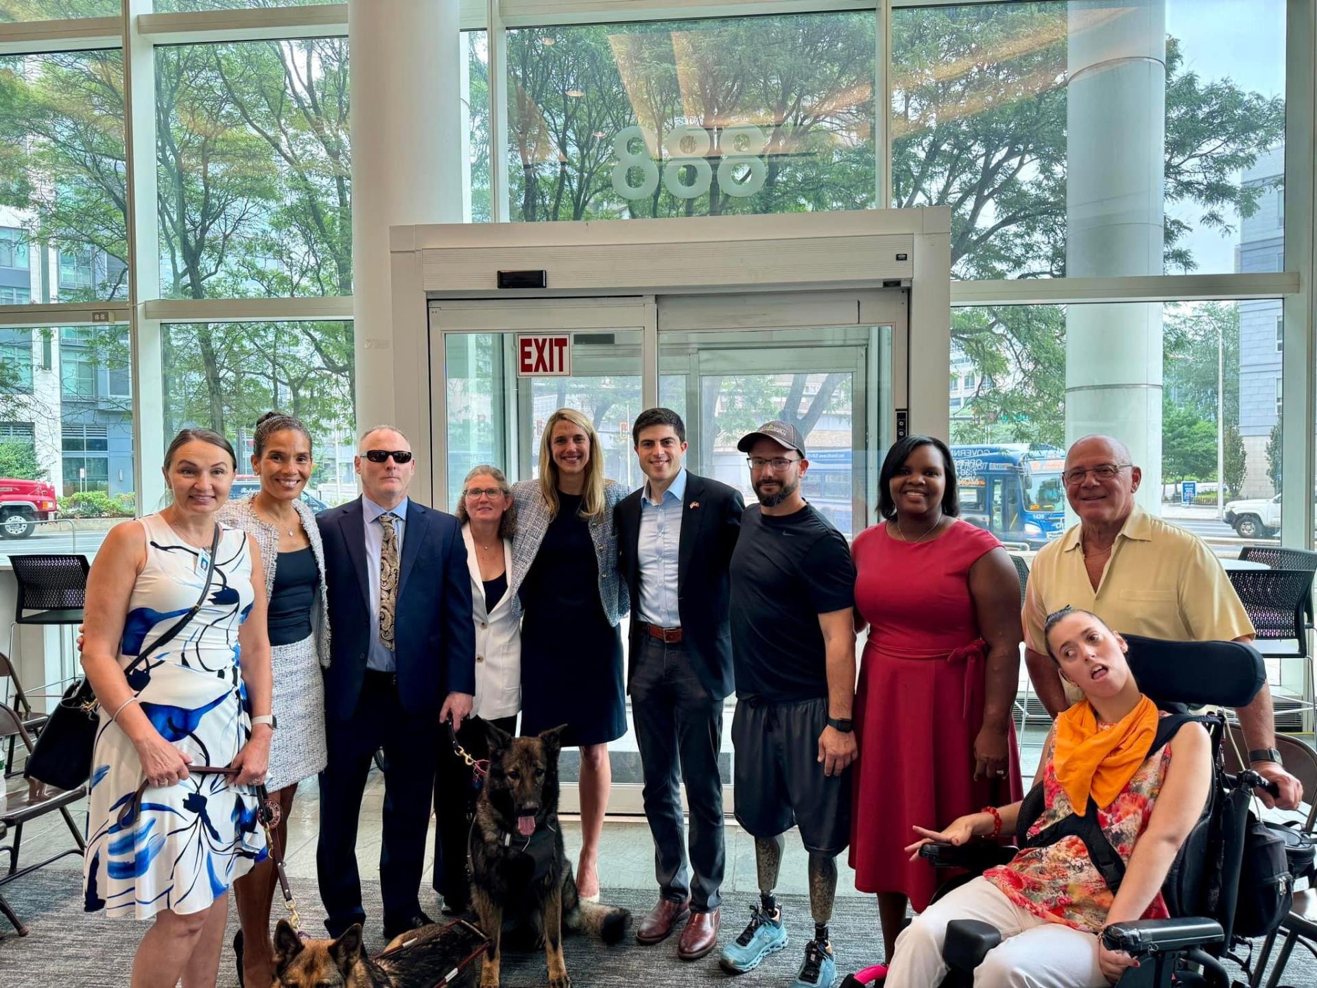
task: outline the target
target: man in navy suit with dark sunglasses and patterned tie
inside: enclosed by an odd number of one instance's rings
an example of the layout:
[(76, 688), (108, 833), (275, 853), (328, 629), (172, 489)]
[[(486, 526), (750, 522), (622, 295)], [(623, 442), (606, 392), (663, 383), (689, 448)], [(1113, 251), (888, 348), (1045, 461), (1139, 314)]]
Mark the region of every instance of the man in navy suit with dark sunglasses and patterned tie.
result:
[(431, 921), (417, 893), (435, 736), (445, 718), (460, 727), (471, 711), (475, 626), (461, 526), (408, 499), (416, 464), (407, 437), (389, 425), (370, 429), (354, 465), (362, 497), (316, 519), (332, 632), (316, 875), (331, 937), (365, 921), (357, 818), (370, 761), (382, 747), (379, 885), (385, 937), (392, 938)]

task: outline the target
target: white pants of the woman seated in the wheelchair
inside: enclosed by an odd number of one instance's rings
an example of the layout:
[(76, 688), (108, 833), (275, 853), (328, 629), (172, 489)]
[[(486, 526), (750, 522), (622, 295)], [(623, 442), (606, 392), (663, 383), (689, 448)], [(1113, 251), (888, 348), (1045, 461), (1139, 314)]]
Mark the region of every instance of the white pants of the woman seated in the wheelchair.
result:
[(942, 943), (952, 919), (1001, 930), (1001, 946), (975, 971), (975, 988), (1106, 988), (1094, 934), (1039, 919), (984, 877), (950, 892), (901, 931), (884, 988), (936, 988), (950, 970)]

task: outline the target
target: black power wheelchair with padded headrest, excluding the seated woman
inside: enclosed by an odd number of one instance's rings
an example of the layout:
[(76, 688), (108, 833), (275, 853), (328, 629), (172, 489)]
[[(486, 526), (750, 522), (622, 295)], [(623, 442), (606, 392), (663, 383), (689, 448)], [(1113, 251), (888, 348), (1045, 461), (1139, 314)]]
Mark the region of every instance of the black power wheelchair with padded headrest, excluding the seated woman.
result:
[[(1221, 956), (1241, 933), (1235, 929), (1235, 919), (1250, 827), (1249, 804), (1252, 788), (1262, 785), (1263, 780), (1249, 771), (1227, 773), (1222, 752), (1226, 731), (1223, 714), (1189, 715), (1188, 707), (1246, 706), (1266, 682), (1266, 669), (1255, 648), (1235, 642), (1162, 642), (1138, 635), (1126, 635), (1125, 639), (1130, 645), (1127, 657), (1139, 689), (1160, 710), (1172, 715), (1163, 718), (1150, 752), (1164, 744), (1184, 722), (1198, 721), (1212, 739), (1213, 784), (1198, 822), (1189, 831), (1162, 885), (1171, 918), (1115, 923), (1106, 927), (1104, 939), (1108, 948), (1125, 950), (1139, 959), (1139, 967), (1129, 968), (1121, 977), (1119, 988), (1227, 988), (1230, 977)], [(1035, 786), (1021, 805), (1017, 843), (1036, 846), (1040, 838), (1081, 837), (1094, 867), (1114, 892), (1125, 864), (1100, 830), (1094, 838), (1096, 819), (1085, 821), (1075, 814), (1048, 827), (1060, 830), (1060, 834), (1047, 835), (1043, 831), (1030, 840), (1029, 830), (1042, 811), (1042, 786)], [(1092, 802), (1089, 813), (1093, 813)], [(936, 897), (993, 865), (1009, 862), (1017, 852), (1018, 847), (990, 843), (961, 847), (926, 844), (921, 851), (936, 867), (968, 872), (943, 885)], [(1256, 893), (1258, 889), (1246, 892)], [(1280, 888), (1271, 894), (1283, 896), (1287, 892)], [(1287, 910), (1281, 901), (1271, 912), (1279, 925)], [(1250, 929), (1245, 933), (1260, 935), (1266, 930)], [(943, 958), (951, 972), (942, 988), (971, 988), (975, 968), (998, 943), (1000, 931), (988, 923), (975, 919), (950, 922)]]

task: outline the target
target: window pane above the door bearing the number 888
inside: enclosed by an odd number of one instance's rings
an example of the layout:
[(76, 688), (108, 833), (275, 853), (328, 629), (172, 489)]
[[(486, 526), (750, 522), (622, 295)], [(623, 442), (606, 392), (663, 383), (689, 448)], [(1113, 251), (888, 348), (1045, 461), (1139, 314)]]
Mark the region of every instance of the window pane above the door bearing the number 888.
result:
[(511, 219), (868, 209), (874, 11), (507, 32)]

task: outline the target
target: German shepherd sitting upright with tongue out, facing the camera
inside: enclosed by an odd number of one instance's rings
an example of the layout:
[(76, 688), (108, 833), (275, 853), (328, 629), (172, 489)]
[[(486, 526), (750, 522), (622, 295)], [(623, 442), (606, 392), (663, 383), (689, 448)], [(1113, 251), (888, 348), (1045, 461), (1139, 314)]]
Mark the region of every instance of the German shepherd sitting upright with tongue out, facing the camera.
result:
[(475, 804), (470, 835), (471, 902), (490, 938), (481, 988), (498, 988), (502, 939), (528, 934), (544, 942), (551, 988), (570, 988), (562, 931), (587, 931), (616, 943), (627, 910), (583, 902), (562, 851), (558, 826), (558, 751), (562, 727), (512, 738), (486, 723), (489, 777)]

